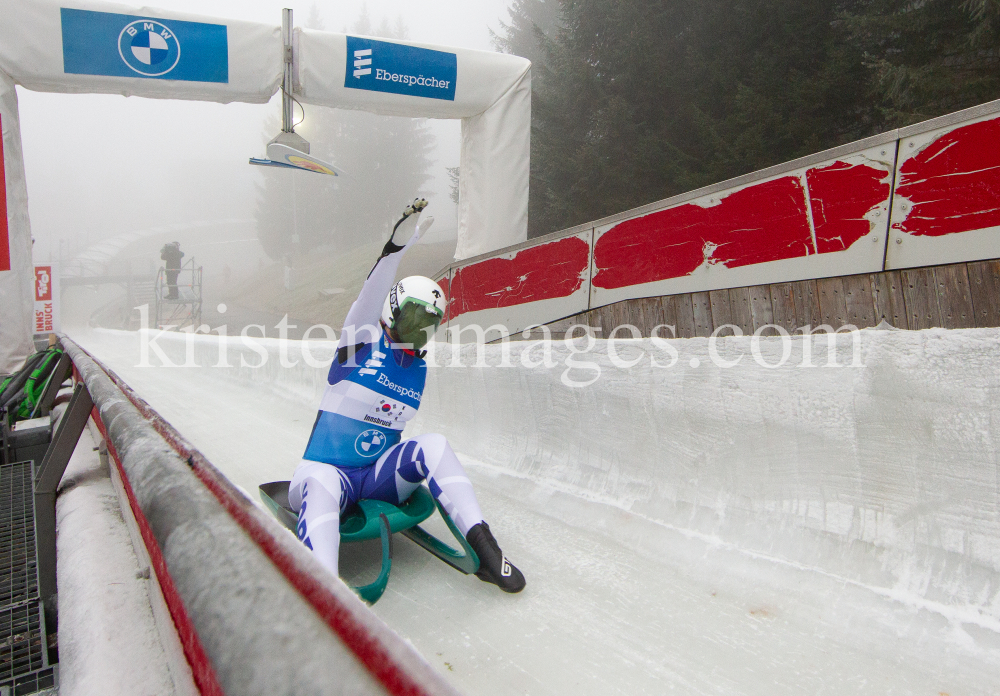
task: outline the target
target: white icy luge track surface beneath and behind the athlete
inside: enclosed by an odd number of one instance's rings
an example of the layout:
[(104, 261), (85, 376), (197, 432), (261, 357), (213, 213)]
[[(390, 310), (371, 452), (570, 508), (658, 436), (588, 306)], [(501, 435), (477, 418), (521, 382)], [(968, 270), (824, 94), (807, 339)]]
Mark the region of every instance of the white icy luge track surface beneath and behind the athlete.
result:
[[(137, 367), (135, 333), (74, 338), (255, 500), (291, 476), (325, 378), (299, 344), (281, 367), (261, 342), (252, 369), (231, 341), (222, 368), (197, 337), (201, 367), (163, 368)], [(721, 343), (744, 355), (726, 369), (704, 339), (672, 341), (667, 369), (648, 341), (619, 348), (646, 356), (627, 370), (598, 342), (583, 389), (563, 347), (549, 369), (432, 369), (407, 434), (453, 442), (528, 586), (504, 595), (397, 537), (375, 613), (468, 694), (1000, 692), (1000, 333), (859, 338), (861, 367), (802, 368), (793, 345), (773, 370), (747, 339)], [(183, 340), (157, 345), (181, 363)], [(853, 349), (838, 340), (841, 364)], [(377, 567), (370, 546), (342, 559)]]

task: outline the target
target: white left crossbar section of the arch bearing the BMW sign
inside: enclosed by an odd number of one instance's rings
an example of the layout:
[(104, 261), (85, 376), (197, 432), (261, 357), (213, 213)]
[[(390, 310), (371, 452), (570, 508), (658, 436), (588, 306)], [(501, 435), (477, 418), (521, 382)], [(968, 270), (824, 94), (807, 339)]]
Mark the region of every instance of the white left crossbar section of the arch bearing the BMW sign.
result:
[(282, 56), (278, 22), (102, 0), (17, 0), (0, 20), (0, 72), (36, 92), (264, 104)]

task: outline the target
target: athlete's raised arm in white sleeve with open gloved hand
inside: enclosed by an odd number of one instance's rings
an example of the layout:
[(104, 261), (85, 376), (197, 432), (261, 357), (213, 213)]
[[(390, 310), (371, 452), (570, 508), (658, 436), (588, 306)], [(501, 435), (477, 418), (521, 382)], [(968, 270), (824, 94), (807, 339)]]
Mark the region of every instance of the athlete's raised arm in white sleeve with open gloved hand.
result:
[[(422, 226), (417, 225), (420, 213), (425, 207), (427, 207), (427, 201), (423, 198), (413, 201), (413, 204), (406, 208), (403, 217), (393, 227), (389, 241), (382, 249), (382, 255), (375, 262), (365, 284), (361, 287), (358, 299), (351, 305), (351, 310), (347, 313), (347, 318), (344, 319), (344, 330), (341, 332), (340, 342), (337, 344), (338, 350), (357, 343), (372, 341), (378, 335), (378, 321), (379, 317), (382, 316), (382, 305), (385, 303), (386, 295), (392, 289), (393, 283), (396, 282), (399, 262), (403, 260), (407, 249), (419, 241), (422, 232), (430, 227), (430, 223), (434, 221), (434, 218), (427, 218)], [(397, 239), (406, 240), (406, 242), (399, 245), (396, 243)]]

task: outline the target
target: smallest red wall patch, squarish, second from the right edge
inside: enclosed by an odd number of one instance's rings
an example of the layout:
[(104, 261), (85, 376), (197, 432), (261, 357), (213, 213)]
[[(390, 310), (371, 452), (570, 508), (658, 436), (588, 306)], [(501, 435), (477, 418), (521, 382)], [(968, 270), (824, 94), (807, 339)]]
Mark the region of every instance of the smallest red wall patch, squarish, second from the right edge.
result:
[(817, 251), (844, 251), (871, 232), (864, 216), (889, 199), (891, 181), (888, 169), (865, 164), (834, 162), (807, 170)]

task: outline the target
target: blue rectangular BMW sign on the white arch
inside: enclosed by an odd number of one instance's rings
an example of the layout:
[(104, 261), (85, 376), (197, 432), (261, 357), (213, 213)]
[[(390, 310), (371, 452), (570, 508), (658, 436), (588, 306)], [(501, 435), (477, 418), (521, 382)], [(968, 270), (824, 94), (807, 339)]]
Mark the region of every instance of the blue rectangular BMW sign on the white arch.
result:
[(63, 69), (77, 75), (228, 82), (224, 24), (61, 8)]

